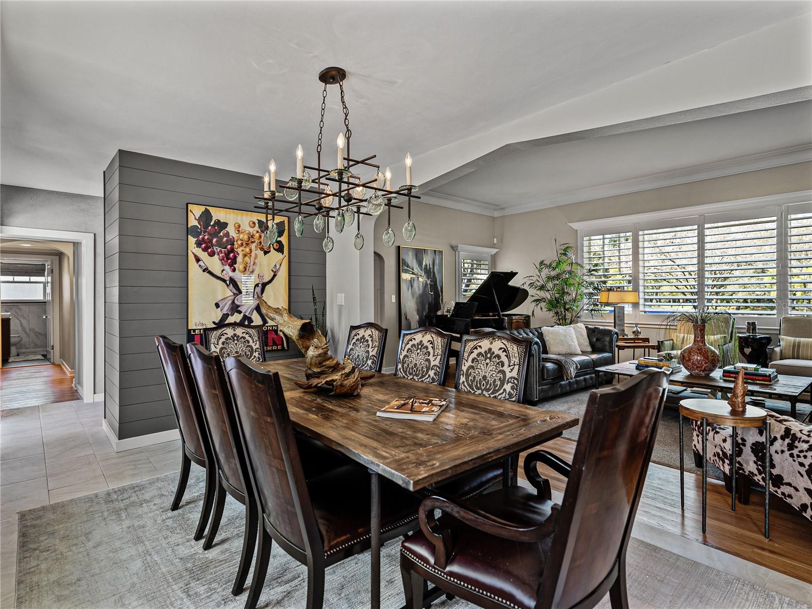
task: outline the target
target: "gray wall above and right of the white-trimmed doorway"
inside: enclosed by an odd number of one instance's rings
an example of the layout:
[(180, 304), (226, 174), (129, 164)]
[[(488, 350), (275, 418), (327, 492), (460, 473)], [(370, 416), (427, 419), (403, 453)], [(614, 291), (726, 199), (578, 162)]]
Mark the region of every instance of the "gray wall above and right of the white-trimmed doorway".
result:
[[(0, 186), (0, 224), (7, 227), (46, 228), (52, 231), (92, 232), (96, 235), (93, 253), (93, 307), (96, 329), (95, 380), (93, 393), (104, 391), (104, 222), (102, 197), (76, 195), (21, 186)], [(77, 353), (77, 361), (81, 355)]]

